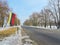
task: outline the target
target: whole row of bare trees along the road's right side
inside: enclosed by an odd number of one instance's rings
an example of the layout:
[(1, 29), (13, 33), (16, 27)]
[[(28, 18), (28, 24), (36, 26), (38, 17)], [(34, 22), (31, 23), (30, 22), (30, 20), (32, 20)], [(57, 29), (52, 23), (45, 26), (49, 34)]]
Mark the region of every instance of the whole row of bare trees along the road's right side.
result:
[(56, 25), (60, 27), (60, 0), (48, 0), (48, 5), (40, 12), (30, 15), (24, 25), (29, 26), (48, 26)]

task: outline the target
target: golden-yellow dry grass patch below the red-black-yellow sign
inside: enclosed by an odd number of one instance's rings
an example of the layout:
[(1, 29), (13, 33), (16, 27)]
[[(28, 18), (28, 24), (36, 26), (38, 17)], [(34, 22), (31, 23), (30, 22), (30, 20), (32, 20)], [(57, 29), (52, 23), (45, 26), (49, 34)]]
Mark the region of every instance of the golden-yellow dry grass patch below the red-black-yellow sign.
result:
[(6, 36), (10, 36), (12, 34), (15, 34), (17, 31), (16, 27), (8, 28), (6, 30), (0, 31), (0, 38), (4, 38)]

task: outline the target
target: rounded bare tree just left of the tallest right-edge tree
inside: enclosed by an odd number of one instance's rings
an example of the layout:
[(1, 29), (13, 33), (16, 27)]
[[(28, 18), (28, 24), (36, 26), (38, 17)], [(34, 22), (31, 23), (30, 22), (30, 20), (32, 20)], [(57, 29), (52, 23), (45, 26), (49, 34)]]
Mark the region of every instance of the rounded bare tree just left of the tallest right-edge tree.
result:
[(49, 19), (50, 19), (50, 12), (47, 8), (44, 8), (42, 11), (41, 11), (41, 14), (43, 16), (43, 18), (41, 20), (43, 20), (44, 22), (44, 26), (46, 27), (49, 23)]

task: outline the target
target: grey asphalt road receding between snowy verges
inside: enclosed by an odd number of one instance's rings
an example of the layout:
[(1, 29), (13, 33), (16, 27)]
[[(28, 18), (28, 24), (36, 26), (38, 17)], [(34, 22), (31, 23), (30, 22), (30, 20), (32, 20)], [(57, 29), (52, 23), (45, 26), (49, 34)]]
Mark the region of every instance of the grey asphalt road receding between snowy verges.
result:
[(59, 31), (51, 32), (40, 28), (22, 26), (26, 33), (38, 43), (38, 45), (60, 45)]

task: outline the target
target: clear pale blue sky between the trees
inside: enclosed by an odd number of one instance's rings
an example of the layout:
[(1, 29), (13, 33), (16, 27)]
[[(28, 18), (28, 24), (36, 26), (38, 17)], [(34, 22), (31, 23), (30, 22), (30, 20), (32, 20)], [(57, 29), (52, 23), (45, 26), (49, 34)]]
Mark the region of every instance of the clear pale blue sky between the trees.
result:
[(33, 12), (40, 12), (48, 0), (7, 0), (7, 2), (22, 24)]

